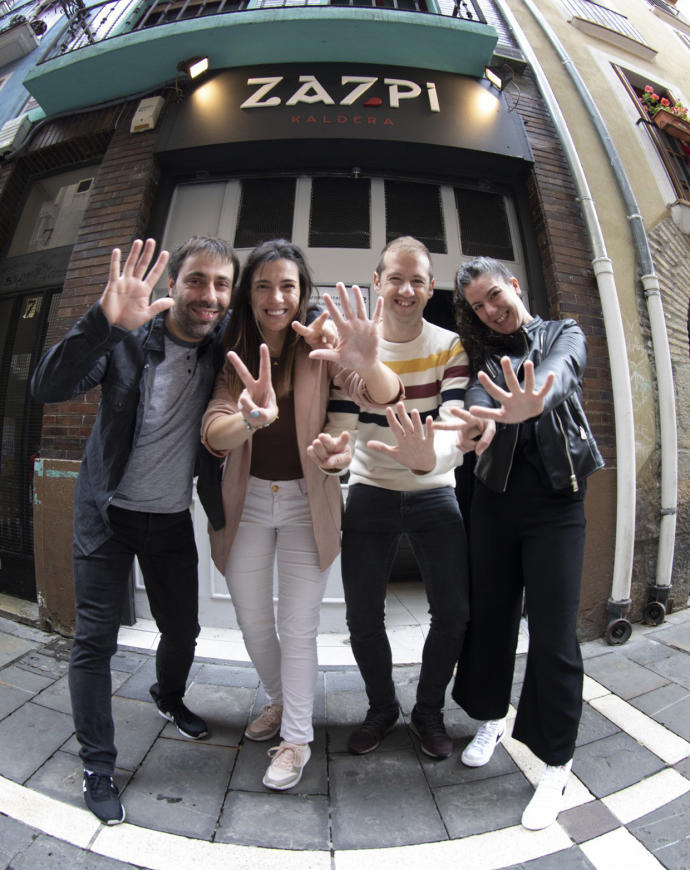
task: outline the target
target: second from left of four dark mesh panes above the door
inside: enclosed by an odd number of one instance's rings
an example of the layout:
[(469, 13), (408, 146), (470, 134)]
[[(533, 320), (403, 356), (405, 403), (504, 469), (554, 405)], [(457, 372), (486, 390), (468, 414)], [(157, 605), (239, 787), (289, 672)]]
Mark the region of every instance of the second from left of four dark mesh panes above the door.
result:
[(369, 192), (368, 179), (312, 179), (309, 247), (368, 248)]

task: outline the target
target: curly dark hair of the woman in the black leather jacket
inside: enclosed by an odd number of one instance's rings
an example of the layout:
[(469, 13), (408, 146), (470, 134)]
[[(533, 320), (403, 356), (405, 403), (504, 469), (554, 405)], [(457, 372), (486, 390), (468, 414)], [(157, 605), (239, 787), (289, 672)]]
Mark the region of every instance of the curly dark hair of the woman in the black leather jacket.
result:
[(505, 336), (494, 332), (482, 323), (465, 299), (466, 287), (475, 278), (480, 278), (483, 275), (490, 275), (492, 278), (503, 281), (510, 281), (513, 277), (510, 270), (500, 260), (494, 260), (493, 257), (475, 257), (468, 260), (458, 267), (455, 274), (453, 311), (460, 340), (470, 359), (472, 376), (475, 376), (483, 368), (487, 357), (494, 350), (505, 345), (506, 342)]

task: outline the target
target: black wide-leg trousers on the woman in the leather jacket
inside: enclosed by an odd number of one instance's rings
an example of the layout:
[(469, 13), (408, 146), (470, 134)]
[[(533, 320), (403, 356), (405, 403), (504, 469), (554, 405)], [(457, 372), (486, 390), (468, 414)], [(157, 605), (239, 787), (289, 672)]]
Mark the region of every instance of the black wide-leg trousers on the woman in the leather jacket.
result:
[(549, 488), (521, 460), (503, 494), (477, 481), (471, 522), (472, 619), (453, 698), (475, 719), (505, 716), (524, 588), (529, 651), (513, 737), (546, 764), (564, 764), (582, 712), (583, 494)]

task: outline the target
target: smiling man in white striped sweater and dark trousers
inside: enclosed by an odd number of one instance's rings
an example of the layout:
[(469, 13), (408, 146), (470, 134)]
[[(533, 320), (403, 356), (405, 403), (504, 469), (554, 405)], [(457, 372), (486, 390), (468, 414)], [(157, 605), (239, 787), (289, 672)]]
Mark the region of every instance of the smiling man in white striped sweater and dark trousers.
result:
[[(434, 431), (455, 419), (469, 379), (467, 354), (454, 332), (424, 320), (434, 290), (431, 257), (410, 236), (384, 248), (374, 273), (383, 298), (379, 357), (404, 385), (402, 400), (381, 409), (346, 397), (329, 407), (329, 431), (310, 448), (324, 470), (349, 464), (342, 539), (342, 576), (352, 651), (369, 699), (348, 749), (376, 749), (399, 717), (385, 628), (386, 587), (398, 541), (406, 534), (426, 587), (431, 625), (422, 653), (410, 727), (432, 758), (453, 749), (442, 709), (468, 620), (467, 544), (453, 470), (462, 462), (454, 432)], [(356, 428), (350, 455), (347, 436)], [(350, 462), (351, 459), (351, 462)]]

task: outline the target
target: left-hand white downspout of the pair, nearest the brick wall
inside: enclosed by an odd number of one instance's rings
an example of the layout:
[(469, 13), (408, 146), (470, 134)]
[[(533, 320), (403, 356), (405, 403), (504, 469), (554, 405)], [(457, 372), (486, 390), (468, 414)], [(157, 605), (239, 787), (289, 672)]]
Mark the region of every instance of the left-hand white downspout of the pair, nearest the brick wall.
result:
[[(611, 597), (608, 601), (609, 623), (606, 639), (609, 643), (625, 643), (632, 626), (627, 619), (630, 610), (630, 587), (635, 545), (635, 427), (630, 371), (625, 344), (623, 318), (618, 304), (618, 292), (613, 263), (606, 251), (604, 236), (596, 206), (580, 162), (575, 143), (560, 106), (539, 60), (522, 28), (504, 0), (494, 0), (517, 40), (535, 75), (537, 86), (546, 103), (563, 144), (566, 158), (582, 203), (594, 259), (592, 268), (599, 290), (601, 310), (606, 329), (606, 342), (611, 363), (611, 384), (616, 427), (616, 542), (613, 560)], [(531, 10), (534, 14), (534, 10)]]

